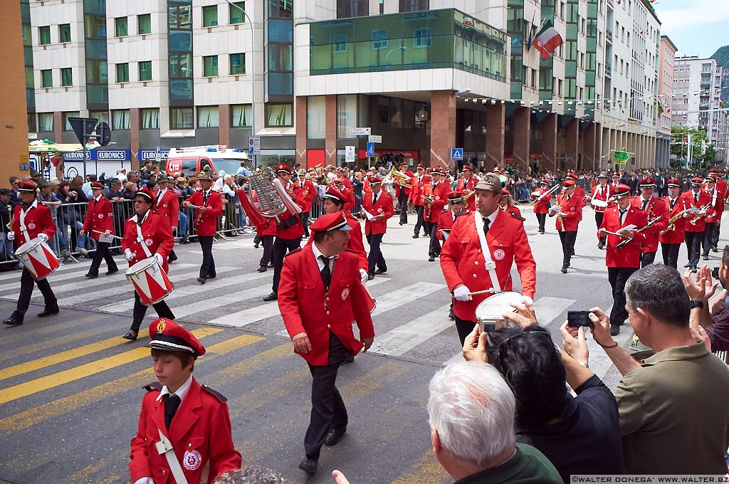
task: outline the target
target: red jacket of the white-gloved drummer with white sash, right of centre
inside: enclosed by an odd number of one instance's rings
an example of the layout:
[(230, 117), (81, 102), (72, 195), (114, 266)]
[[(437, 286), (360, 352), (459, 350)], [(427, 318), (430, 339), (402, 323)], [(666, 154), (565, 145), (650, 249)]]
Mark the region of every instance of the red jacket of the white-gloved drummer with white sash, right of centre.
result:
[[(480, 214), (478, 219), (481, 220)], [(476, 226), (474, 214), (459, 216), (453, 223), (451, 235), (443, 243), (443, 249), (440, 249), (440, 268), (451, 292), (459, 284), (465, 284), (472, 292), (493, 287), (481, 254), (477, 230), (483, 230), (483, 225), (479, 223)], [(521, 293), (534, 297), (537, 264), (531, 255), (521, 220), (499, 210), (486, 234), (486, 244), (491, 251), (491, 259), (496, 262), (496, 277), (502, 291), (512, 288), (511, 266), (512, 262), (516, 262)], [(486, 297), (488, 294), (473, 296), (471, 301), (453, 301), (453, 311), (461, 319), (476, 321), (476, 307)]]

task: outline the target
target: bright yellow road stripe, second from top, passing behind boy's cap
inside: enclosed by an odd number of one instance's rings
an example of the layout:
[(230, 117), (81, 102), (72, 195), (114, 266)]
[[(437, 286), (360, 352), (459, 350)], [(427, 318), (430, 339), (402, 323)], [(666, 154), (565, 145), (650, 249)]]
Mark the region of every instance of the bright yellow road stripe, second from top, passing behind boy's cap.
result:
[[(193, 330), (192, 334), (195, 335), (195, 337), (202, 338), (214, 335), (221, 331), (222, 329), (217, 328), (198, 328)], [(96, 373), (120, 367), (122, 364), (135, 362), (136, 360), (142, 359), (146, 356), (149, 356), (149, 348), (134, 348), (133, 350), (125, 351), (121, 354), (108, 356), (95, 362), (82, 364), (69, 370), (64, 370), (42, 378), (27, 381), (26, 383), (11, 386), (7, 389), (0, 390), (0, 405), (12, 402), (12, 400), (28, 397), (28, 395), (36, 394), (47, 389), (55, 388), (56, 386), (61, 386), (64, 383), (70, 383), (74, 380), (79, 380), (90, 375), (95, 375)]]

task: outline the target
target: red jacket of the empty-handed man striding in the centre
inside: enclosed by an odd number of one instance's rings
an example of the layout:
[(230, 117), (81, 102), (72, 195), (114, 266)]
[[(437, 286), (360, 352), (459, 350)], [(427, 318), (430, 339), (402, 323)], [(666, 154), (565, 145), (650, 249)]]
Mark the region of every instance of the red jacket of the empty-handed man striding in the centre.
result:
[(300, 353), (308, 363), (327, 365), (330, 331), (342, 341), (349, 354), (359, 353), (362, 343), (354, 337), (352, 321), (356, 321), (360, 337), (375, 336), (371, 300), (359, 280), (359, 259), (348, 251), (339, 254), (334, 263), (328, 292), (324, 291), (311, 245), (291, 252), (284, 259), (278, 308), (292, 338), (300, 332), (308, 336), (311, 351)]

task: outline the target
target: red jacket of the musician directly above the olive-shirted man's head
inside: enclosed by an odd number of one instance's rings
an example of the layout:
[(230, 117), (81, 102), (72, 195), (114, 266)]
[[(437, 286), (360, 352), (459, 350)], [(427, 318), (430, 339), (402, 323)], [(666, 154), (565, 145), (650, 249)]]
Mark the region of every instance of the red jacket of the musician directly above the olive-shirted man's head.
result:
[[(634, 206), (628, 207), (628, 214), (625, 221), (620, 224), (620, 213), (617, 206), (610, 207), (605, 211), (600, 228), (617, 232), (620, 227), (635, 225), (636, 228), (643, 227), (648, 223), (646, 212)], [(599, 236), (599, 234), (598, 234)], [(639, 268), (640, 267), (640, 246), (645, 242), (645, 233), (636, 233), (631, 242), (620, 249), (615, 249), (617, 243), (624, 241), (617, 235), (607, 236), (607, 252), (605, 254), (605, 265), (609, 268)]]

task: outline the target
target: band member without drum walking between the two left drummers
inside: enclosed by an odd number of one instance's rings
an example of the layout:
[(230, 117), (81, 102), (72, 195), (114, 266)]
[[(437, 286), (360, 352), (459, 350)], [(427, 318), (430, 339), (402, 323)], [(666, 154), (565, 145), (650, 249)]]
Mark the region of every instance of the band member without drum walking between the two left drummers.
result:
[(101, 259), (106, 261), (106, 273), (114, 274), (119, 272), (117, 263), (114, 262), (109, 246), (110, 242), (101, 242), (102, 235), (108, 237), (114, 233), (114, 212), (112, 211), (112, 202), (104, 197), (104, 184), (93, 182), (91, 184), (91, 192), (93, 198), (89, 200), (86, 208), (86, 218), (84, 225), (79, 231), (79, 235), (89, 233), (91, 238), (96, 241), (96, 251), (93, 254), (93, 260), (86, 277), (93, 279), (98, 277), (98, 268), (101, 266)]

